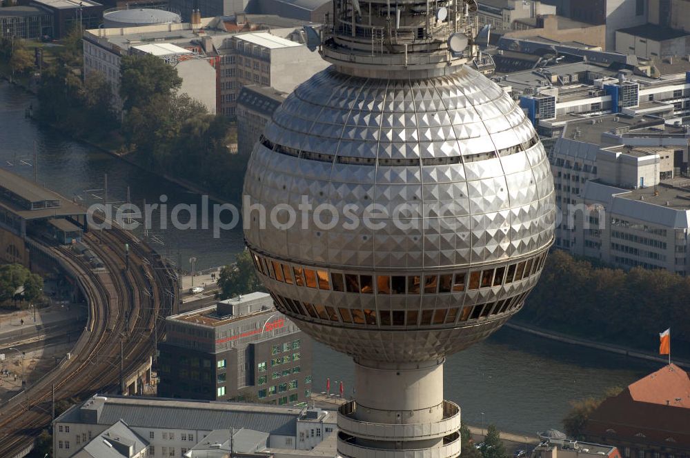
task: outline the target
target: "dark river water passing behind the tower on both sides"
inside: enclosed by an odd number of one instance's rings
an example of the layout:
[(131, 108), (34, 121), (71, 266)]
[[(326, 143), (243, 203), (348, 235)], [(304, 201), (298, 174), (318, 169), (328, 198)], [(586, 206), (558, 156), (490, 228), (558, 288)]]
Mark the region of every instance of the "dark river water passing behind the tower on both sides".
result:
[[(108, 175), (108, 200), (141, 204), (159, 202), (166, 195), (168, 206), (199, 203), (200, 197), (144, 170), (99, 150), (72, 141), (61, 132), (37, 126), (24, 112), (34, 97), (0, 81), (0, 166), (32, 177), (33, 145), (37, 144), (37, 179), (67, 197), (86, 203), (102, 202), (104, 175)], [(11, 164), (11, 165), (10, 165)], [(242, 249), (242, 231), (227, 230), (214, 238), (211, 230), (161, 230), (152, 232), (164, 245), (159, 252), (181, 259), (190, 268), (232, 262)], [(179, 254), (178, 254), (179, 253)], [(628, 359), (561, 344), (548, 339), (502, 329), (486, 341), (446, 360), (445, 397), (460, 404), (469, 424), (494, 423), (513, 432), (533, 434), (546, 428), (561, 428), (569, 400), (600, 395), (611, 386), (627, 386), (659, 368), (660, 364)], [(317, 345), (314, 355), (313, 389), (323, 391), (326, 377), (344, 381), (346, 395), (353, 386), (352, 363), (348, 357)], [(484, 415), (482, 415), (484, 412)]]

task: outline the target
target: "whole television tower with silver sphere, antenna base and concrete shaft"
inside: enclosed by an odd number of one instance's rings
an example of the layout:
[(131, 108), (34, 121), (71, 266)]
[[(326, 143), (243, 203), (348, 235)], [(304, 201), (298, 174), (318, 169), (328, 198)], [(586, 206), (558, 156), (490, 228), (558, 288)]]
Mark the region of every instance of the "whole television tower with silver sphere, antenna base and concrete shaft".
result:
[(290, 94), (250, 158), (246, 244), (277, 308), (355, 360), (339, 455), (457, 457), (444, 357), (538, 281), (549, 162), (520, 107), (468, 65), (474, 0), (334, 3), (319, 43), (333, 66)]

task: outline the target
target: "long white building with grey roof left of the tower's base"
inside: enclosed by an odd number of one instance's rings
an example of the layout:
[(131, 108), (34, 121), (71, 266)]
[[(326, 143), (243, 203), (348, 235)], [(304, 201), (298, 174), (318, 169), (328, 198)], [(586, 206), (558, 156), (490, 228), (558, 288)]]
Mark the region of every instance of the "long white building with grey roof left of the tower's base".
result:
[(128, 458), (208, 458), (230, 447), (248, 458), (290, 450), (299, 456), (295, 450), (319, 448), (335, 428), (335, 412), (319, 408), (93, 396), (53, 421), (52, 456), (119, 456), (107, 450)]

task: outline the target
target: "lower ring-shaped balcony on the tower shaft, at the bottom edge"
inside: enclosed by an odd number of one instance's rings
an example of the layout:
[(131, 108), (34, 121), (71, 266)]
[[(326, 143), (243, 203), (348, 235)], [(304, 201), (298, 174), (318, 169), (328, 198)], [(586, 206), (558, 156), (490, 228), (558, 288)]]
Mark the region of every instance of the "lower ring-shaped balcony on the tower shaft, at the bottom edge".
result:
[(460, 456), (460, 433), (444, 437), (435, 448), (373, 448), (355, 444), (356, 439), (338, 433), (338, 454), (346, 458), (457, 458)]

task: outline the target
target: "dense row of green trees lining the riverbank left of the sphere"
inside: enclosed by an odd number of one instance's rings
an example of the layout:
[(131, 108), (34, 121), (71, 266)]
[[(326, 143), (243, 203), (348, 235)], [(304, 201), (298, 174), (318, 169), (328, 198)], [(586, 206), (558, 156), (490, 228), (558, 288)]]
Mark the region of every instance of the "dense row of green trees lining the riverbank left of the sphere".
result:
[(175, 67), (150, 54), (121, 58), (119, 97), (103, 74), (81, 77), (81, 34), (72, 32), (43, 71), (39, 119), (70, 135), (130, 151), (142, 165), (236, 199), (246, 161), (226, 145), (234, 130), (221, 115), (180, 93)]

